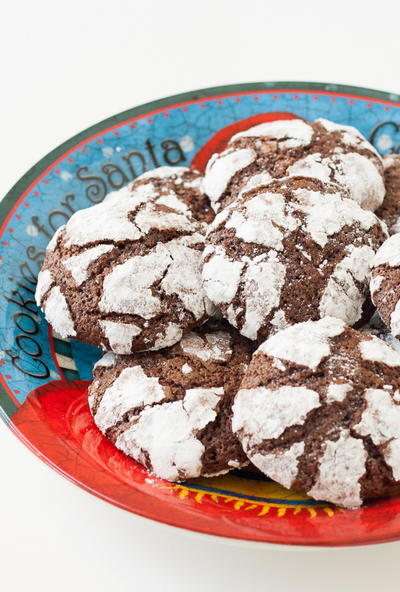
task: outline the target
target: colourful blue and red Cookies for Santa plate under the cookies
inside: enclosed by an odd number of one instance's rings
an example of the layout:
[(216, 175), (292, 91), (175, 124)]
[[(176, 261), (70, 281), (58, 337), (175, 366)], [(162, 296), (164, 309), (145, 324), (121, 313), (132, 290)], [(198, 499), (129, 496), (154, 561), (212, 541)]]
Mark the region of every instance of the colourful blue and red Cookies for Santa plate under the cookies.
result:
[(250, 471), (182, 484), (150, 476), (116, 450), (91, 418), (86, 391), (100, 351), (52, 334), (34, 301), (46, 244), (75, 210), (162, 164), (204, 170), (234, 132), (295, 116), (354, 125), (382, 154), (400, 152), (400, 96), (260, 82), (193, 91), (115, 115), (53, 150), (18, 181), (0, 205), (0, 414), (59, 473), (153, 520), (286, 545), (397, 540), (399, 490), (343, 511)]

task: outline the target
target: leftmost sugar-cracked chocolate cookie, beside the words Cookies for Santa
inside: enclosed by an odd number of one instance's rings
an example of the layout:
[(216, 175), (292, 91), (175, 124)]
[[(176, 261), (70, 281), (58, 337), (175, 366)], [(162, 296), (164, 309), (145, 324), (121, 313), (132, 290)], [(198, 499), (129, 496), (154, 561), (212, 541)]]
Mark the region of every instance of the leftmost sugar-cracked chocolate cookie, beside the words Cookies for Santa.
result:
[(36, 300), (63, 338), (129, 354), (173, 345), (207, 320), (203, 226), (151, 184), (76, 212), (50, 241)]

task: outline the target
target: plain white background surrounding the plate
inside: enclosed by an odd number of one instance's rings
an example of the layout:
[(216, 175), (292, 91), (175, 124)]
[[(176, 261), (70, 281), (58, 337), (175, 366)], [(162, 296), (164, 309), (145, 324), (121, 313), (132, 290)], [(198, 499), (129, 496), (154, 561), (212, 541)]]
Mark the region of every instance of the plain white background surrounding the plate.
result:
[[(81, 129), (165, 95), (258, 80), (400, 92), (399, 17), (391, 0), (0, 0), (0, 195)], [(398, 580), (400, 543), (240, 548), (107, 505), (57, 476), (2, 424), (0, 451), (7, 592), (368, 592)]]

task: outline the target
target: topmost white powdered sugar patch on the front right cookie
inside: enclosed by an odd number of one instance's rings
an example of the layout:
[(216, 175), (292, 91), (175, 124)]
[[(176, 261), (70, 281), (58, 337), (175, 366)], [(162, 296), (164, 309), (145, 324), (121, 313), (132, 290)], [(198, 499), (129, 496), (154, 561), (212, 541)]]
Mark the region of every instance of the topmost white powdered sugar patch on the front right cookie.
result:
[(325, 317), (288, 327), (265, 341), (257, 351), (315, 370), (331, 352), (330, 339), (343, 333), (345, 323)]

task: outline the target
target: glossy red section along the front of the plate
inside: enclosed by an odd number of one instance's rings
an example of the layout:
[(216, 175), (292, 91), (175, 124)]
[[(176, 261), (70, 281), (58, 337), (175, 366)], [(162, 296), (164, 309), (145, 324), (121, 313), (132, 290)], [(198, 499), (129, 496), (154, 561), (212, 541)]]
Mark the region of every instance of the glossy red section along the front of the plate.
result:
[[(386, 499), (355, 511), (282, 511), (260, 516), (211, 496), (149, 476), (96, 428), (86, 382), (52, 382), (33, 392), (14, 415), (21, 439), (58, 472), (84, 489), (141, 516), (190, 530), (250, 541), (292, 545), (357, 545), (397, 539), (400, 500)], [(193, 486), (195, 489), (195, 484)], [(227, 500), (229, 501), (229, 500)]]

